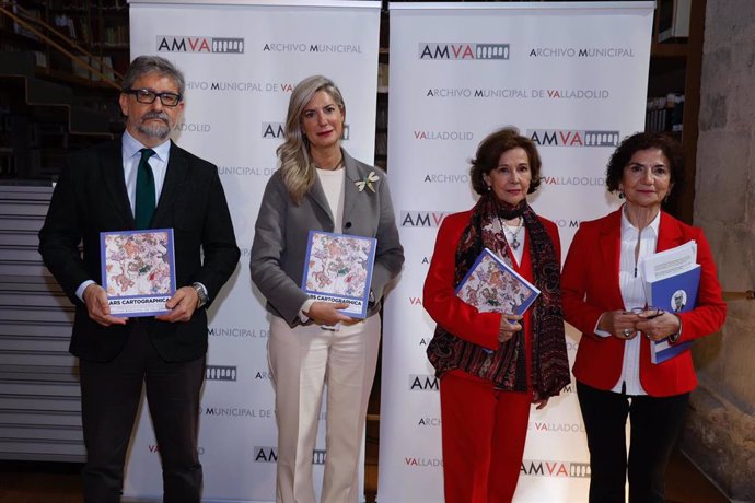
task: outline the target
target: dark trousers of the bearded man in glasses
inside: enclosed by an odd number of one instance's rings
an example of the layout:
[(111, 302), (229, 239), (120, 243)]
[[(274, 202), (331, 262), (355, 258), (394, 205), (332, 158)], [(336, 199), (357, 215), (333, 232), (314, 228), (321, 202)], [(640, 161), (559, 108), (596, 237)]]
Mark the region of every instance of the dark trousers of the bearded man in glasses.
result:
[(106, 363), (80, 361), (81, 416), (86, 464), (84, 501), (120, 501), (124, 463), (142, 384), (163, 468), (165, 502), (199, 502), (199, 394), (205, 358), (169, 363), (152, 347), (143, 321), (132, 318), (124, 351)]

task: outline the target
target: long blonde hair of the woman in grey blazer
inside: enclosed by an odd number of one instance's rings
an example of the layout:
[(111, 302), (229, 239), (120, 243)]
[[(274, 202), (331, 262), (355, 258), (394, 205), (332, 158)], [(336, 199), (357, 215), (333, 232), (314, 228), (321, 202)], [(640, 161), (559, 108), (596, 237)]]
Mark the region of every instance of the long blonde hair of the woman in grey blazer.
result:
[(344, 113), (344, 96), (341, 96), (336, 84), (323, 75), (307, 77), (299, 82), (291, 93), (289, 112), (286, 116), (286, 139), (276, 150), (278, 159), (280, 159), (283, 185), (286, 185), (289, 197), (295, 204), (302, 202), (304, 195), (312, 188), (315, 176), (317, 176), (310, 157), (310, 142), (302, 131), (301, 117), (306, 104), (320, 91), (328, 93)]

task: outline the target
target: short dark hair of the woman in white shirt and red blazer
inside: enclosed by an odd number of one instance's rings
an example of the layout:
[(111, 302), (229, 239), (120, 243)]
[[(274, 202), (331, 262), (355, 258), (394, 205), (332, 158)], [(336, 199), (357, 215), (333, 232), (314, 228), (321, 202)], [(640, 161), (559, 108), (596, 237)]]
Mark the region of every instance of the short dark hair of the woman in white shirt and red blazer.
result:
[(627, 137), (611, 155), (605, 171), (605, 185), (615, 192), (624, 177), (624, 168), (640, 150), (659, 149), (669, 160), (671, 183), (677, 190), (684, 185), (684, 151), (682, 144), (664, 132), (638, 132)]

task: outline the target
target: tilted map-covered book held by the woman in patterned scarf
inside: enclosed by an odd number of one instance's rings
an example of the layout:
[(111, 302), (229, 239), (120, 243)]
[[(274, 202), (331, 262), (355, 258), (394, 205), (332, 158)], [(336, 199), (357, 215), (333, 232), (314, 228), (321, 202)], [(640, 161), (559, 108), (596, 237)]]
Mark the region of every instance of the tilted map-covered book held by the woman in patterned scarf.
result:
[(480, 312), (522, 315), (541, 291), (485, 248), (456, 286), (456, 296)]

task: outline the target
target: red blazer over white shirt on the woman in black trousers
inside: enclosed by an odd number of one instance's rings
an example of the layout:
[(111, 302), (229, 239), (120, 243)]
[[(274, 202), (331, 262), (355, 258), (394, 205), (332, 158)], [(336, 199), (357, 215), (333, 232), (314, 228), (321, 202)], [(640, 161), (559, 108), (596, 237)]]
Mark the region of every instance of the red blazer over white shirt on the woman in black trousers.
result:
[[(597, 389), (611, 389), (622, 373), (625, 342), (616, 337), (594, 334), (601, 314), (623, 309), (618, 285), (622, 213), (615, 211), (591, 222), (582, 222), (571, 243), (561, 274), (561, 300), (566, 320), (582, 332), (573, 373), (577, 381)], [(717, 331), (727, 317), (727, 304), (716, 277), (716, 264), (702, 231), (661, 212), (658, 252), (690, 239), (697, 242), (697, 262), (701, 267), (697, 307), (681, 313), (680, 341), (697, 339)], [(641, 338), (640, 383), (648, 395), (665, 397), (693, 390), (697, 377), (689, 351), (653, 364), (650, 342)]]

